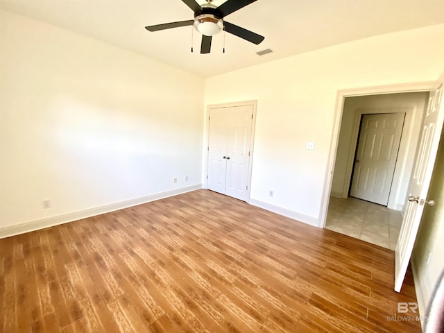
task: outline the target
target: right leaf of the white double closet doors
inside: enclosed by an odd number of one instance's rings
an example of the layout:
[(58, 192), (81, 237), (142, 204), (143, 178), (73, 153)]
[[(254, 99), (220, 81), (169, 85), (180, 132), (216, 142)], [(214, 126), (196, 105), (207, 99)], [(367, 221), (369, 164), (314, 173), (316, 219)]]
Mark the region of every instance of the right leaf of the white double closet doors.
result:
[(248, 167), (253, 105), (225, 108), (227, 112), (227, 179), (225, 194), (239, 200), (248, 199)]

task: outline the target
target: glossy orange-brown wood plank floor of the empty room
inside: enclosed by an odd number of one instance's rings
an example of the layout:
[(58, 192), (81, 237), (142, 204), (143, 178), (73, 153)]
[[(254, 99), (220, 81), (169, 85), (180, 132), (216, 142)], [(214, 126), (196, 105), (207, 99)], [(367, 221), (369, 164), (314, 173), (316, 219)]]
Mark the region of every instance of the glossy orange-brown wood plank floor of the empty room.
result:
[[(1, 332), (420, 332), (394, 253), (198, 190), (0, 240)], [(404, 316), (407, 314), (404, 314)], [(415, 316), (415, 314), (409, 314)]]

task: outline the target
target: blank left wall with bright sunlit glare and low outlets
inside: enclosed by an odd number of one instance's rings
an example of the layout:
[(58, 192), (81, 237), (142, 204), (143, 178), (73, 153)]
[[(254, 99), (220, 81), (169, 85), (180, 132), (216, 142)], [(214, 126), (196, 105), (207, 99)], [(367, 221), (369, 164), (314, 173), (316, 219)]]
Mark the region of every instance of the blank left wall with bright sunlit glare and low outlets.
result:
[(4, 11), (0, 57), (0, 236), (200, 187), (202, 78)]

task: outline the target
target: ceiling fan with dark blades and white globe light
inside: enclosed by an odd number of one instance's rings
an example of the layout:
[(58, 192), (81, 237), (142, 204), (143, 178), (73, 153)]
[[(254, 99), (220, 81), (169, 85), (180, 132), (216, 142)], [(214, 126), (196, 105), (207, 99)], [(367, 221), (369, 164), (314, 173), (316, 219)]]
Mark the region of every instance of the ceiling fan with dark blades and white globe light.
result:
[(194, 11), (194, 19), (188, 21), (171, 22), (165, 24), (156, 24), (155, 26), (146, 26), (148, 31), (160, 31), (180, 26), (194, 26), (197, 31), (202, 33), (202, 44), (200, 45), (200, 53), (210, 53), (212, 36), (220, 33), (222, 30), (237, 35), (238, 37), (248, 40), (254, 44), (259, 44), (264, 40), (264, 36), (257, 35), (253, 31), (241, 28), (230, 22), (226, 22), (223, 18), (232, 12), (248, 6), (257, 0), (228, 0), (216, 7), (212, 5), (212, 0), (206, 0), (207, 3), (200, 6), (195, 0), (182, 0), (191, 10)]

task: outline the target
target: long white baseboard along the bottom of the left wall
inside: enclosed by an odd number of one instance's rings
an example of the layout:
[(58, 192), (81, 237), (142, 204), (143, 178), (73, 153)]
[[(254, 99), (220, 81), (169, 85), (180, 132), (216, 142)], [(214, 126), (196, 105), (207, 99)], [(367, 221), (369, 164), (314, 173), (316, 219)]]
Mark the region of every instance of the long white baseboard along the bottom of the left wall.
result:
[(114, 210), (122, 210), (123, 208), (141, 205), (142, 203), (149, 203), (150, 201), (168, 198), (169, 196), (177, 196), (178, 194), (195, 191), (196, 189), (201, 188), (202, 184), (196, 184), (187, 187), (181, 187), (180, 189), (171, 189), (169, 191), (150, 194), (148, 196), (141, 196), (139, 198), (123, 200), (119, 203), (110, 203), (108, 205), (93, 207), (87, 210), (79, 210), (77, 212), (53, 216), (47, 219), (21, 223), (18, 225), (11, 225), (10, 227), (0, 228), (0, 239), (14, 236), (15, 234), (24, 234), (25, 232), (52, 227), (53, 225), (59, 225), (80, 219), (86, 219), (87, 217), (91, 216), (114, 212)]

